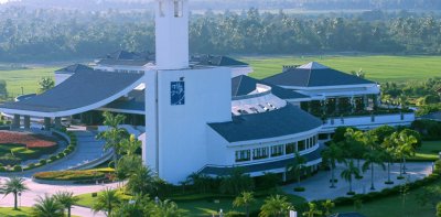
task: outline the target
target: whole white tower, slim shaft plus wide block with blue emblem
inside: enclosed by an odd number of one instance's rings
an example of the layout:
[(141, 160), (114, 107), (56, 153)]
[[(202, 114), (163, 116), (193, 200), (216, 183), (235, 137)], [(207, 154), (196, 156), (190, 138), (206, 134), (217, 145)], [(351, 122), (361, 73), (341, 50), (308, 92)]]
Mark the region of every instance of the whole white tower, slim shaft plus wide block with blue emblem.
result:
[(146, 72), (144, 163), (178, 184), (207, 164), (207, 123), (232, 119), (232, 72), (190, 67), (189, 0), (157, 0), (157, 68)]

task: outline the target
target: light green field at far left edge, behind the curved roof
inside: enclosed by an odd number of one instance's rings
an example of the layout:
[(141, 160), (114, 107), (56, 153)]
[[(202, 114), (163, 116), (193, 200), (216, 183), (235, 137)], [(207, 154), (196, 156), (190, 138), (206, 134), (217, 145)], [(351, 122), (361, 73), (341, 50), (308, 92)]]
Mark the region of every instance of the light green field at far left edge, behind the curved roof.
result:
[(58, 67), (0, 70), (0, 79), (7, 82), (7, 89), (10, 96), (21, 95), (21, 87), (23, 87), (24, 94), (35, 94), (39, 89), (39, 80), (42, 77), (53, 77), (56, 69)]

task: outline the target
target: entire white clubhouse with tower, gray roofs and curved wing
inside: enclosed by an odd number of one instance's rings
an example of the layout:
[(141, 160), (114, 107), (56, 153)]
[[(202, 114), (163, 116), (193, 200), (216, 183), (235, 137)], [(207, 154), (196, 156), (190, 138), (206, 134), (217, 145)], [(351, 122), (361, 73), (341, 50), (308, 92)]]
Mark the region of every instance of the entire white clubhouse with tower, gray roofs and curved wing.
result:
[(24, 129), (31, 117), (44, 118), (50, 129), (88, 111), (131, 116), (143, 132), (146, 165), (173, 184), (195, 172), (218, 176), (235, 167), (251, 176), (284, 174), (294, 152), (316, 170), (321, 141), (335, 128), (415, 120), (413, 112), (375, 115), (377, 84), (318, 63), (258, 80), (248, 77), (246, 63), (190, 56), (189, 0), (157, 0), (155, 24), (154, 54), (119, 51), (89, 66), (68, 66), (55, 72), (53, 89), (0, 105), (0, 111)]

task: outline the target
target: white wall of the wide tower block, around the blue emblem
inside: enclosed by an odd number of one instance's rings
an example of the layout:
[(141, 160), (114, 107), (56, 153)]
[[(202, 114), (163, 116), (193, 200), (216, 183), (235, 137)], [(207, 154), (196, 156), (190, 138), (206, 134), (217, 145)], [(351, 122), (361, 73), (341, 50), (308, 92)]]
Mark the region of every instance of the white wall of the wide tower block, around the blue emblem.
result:
[[(176, 69), (158, 72), (158, 128), (153, 105), (147, 104), (147, 164), (154, 167), (157, 158), (152, 133), (158, 132), (160, 177), (170, 183), (179, 183), (191, 173), (207, 164), (207, 145), (216, 145), (207, 140), (208, 122), (232, 120), (229, 68)], [(150, 79), (154, 76), (147, 75)], [(185, 105), (172, 106), (170, 89), (172, 82), (185, 82)], [(147, 80), (147, 102), (154, 102), (154, 91), (149, 91)], [(152, 109), (154, 110), (154, 109)], [(153, 158), (153, 159), (149, 159)]]

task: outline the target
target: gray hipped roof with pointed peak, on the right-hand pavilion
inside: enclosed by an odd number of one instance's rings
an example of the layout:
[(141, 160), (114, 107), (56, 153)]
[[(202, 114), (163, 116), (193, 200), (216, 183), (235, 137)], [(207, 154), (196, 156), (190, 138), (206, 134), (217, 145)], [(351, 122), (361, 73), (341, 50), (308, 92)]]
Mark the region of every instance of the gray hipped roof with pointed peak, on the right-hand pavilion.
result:
[(297, 87), (375, 84), (372, 80), (342, 73), (323, 65), (320, 65), (321, 67), (306, 68), (305, 66), (308, 65), (315, 66), (318, 64), (310, 63), (301, 67), (290, 68), (283, 73), (267, 77), (263, 80), (279, 86)]

